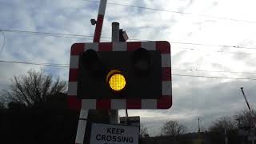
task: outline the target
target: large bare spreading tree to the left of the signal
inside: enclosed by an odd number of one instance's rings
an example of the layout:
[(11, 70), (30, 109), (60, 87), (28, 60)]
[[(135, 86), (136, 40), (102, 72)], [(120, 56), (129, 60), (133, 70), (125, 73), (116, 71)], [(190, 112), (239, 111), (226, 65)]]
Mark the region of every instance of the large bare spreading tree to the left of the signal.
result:
[(66, 82), (54, 79), (41, 71), (29, 70), (27, 74), (14, 76), (10, 88), (2, 96), (9, 102), (18, 102), (27, 107), (47, 102), (51, 97), (66, 92)]

